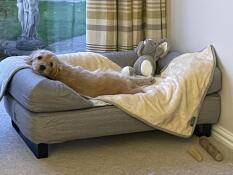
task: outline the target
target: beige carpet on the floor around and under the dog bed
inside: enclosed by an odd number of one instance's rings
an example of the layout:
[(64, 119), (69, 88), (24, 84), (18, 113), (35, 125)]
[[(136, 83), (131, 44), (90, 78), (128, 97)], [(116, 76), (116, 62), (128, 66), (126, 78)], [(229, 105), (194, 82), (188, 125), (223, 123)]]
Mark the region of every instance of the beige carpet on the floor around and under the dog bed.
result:
[[(0, 107), (1, 175), (232, 175), (233, 152), (211, 140), (225, 156), (214, 161), (198, 145), (198, 138), (177, 138), (145, 132), (56, 144), (47, 159), (36, 159), (11, 127)], [(196, 145), (204, 161), (196, 162), (186, 150)]]

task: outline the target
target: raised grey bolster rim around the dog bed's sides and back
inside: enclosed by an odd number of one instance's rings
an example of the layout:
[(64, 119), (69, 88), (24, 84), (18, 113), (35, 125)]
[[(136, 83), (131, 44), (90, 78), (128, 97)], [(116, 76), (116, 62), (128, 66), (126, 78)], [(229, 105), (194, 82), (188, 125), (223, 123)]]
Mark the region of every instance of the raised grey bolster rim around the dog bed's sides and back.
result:
[[(137, 59), (134, 51), (104, 53), (118, 65), (133, 65)], [(158, 62), (161, 70), (169, 62), (180, 55), (170, 52)], [(216, 93), (221, 89), (221, 71), (216, 68), (213, 82), (207, 94)], [(35, 74), (30, 69), (18, 71), (13, 77), (9, 93), (26, 109), (32, 112), (59, 112), (93, 107), (93, 104), (59, 81), (49, 80)]]

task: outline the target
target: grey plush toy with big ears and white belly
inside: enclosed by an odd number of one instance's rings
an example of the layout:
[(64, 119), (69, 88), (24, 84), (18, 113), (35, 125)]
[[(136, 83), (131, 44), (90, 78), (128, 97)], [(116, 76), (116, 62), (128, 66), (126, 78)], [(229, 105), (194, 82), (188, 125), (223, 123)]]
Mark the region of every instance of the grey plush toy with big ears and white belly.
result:
[(168, 51), (169, 45), (166, 39), (159, 42), (155, 42), (152, 39), (141, 41), (135, 49), (138, 59), (134, 63), (134, 66), (126, 66), (121, 72), (125, 75), (154, 76), (156, 72), (156, 62), (160, 58), (165, 57)]

